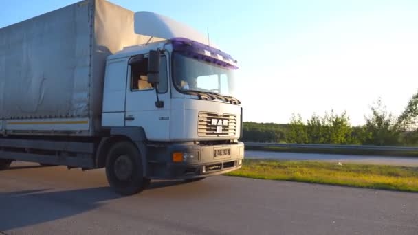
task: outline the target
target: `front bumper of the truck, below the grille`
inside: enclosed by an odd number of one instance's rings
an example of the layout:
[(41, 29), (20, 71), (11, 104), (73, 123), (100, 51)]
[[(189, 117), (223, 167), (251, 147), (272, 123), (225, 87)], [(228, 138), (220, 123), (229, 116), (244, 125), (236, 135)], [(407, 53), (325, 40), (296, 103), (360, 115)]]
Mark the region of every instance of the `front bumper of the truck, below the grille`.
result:
[[(230, 150), (229, 155), (217, 155), (219, 150)], [(218, 152), (217, 152), (218, 151)], [(170, 144), (154, 148), (148, 158), (148, 177), (151, 179), (193, 179), (221, 175), (241, 168), (244, 144), (200, 146), (196, 144)], [(190, 153), (192, 158), (173, 162), (173, 153)]]

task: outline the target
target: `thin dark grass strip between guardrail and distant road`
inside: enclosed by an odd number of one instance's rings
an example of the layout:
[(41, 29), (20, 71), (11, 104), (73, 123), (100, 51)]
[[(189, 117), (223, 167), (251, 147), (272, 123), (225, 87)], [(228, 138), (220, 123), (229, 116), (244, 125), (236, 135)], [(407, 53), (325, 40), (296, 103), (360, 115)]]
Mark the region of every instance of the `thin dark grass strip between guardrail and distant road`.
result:
[(282, 147), (251, 147), (245, 146), (245, 150), (260, 150), (287, 153), (325, 153), (341, 155), (379, 155), (397, 157), (418, 157), (415, 151), (388, 151), (388, 150), (357, 150), (357, 149), (327, 149), (327, 148), (282, 148)]

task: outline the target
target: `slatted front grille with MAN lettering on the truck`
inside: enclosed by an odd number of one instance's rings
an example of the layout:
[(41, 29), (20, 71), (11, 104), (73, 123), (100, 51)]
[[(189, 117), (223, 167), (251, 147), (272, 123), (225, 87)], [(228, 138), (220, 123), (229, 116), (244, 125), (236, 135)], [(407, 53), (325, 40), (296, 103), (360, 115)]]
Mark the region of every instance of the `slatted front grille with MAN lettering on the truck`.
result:
[(200, 112), (197, 133), (199, 136), (234, 136), (236, 115)]

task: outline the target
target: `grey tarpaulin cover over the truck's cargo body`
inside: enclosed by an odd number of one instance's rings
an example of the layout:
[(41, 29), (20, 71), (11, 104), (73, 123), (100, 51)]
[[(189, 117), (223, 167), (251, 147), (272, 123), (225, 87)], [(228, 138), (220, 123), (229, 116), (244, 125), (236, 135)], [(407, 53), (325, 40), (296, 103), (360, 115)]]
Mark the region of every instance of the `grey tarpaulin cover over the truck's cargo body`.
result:
[(88, 0), (0, 29), (0, 119), (98, 120), (107, 56), (150, 38), (133, 14)]

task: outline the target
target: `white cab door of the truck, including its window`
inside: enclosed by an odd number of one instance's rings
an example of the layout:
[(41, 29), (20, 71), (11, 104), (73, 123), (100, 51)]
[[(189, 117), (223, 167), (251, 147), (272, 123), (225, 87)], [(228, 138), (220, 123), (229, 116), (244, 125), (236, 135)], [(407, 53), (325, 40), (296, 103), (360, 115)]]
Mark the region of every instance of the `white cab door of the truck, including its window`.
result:
[(162, 54), (159, 67), (158, 97), (164, 102), (164, 107), (161, 108), (155, 106), (157, 101), (155, 87), (147, 81), (148, 54), (143, 56), (143, 58), (139, 56), (140, 59), (135, 59), (128, 67), (125, 126), (140, 126), (144, 128), (149, 140), (166, 141), (170, 139), (168, 55)]

